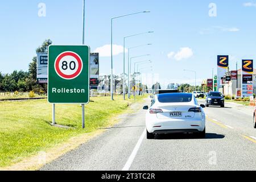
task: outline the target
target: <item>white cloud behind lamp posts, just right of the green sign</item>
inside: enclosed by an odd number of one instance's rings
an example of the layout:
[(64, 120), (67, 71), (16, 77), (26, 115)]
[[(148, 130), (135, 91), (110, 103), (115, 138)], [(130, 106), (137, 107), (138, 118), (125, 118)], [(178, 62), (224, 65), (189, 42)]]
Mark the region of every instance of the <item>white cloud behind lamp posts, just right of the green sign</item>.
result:
[[(111, 45), (107, 44), (102, 47), (98, 47), (94, 50), (94, 52), (100, 53), (101, 57), (110, 57), (111, 56)], [(127, 49), (125, 48), (125, 52)], [(119, 53), (123, 53), (123, 46), (113, 45), (113, 56), (119, 55)]]

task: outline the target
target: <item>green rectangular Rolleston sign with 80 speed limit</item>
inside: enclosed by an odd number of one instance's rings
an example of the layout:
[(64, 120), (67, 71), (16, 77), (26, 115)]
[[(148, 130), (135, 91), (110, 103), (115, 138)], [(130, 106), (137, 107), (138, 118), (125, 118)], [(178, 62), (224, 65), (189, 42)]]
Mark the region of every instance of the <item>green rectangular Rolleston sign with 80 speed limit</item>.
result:
[(48, 102), (88, 104), (88, 46), (49, 46)]

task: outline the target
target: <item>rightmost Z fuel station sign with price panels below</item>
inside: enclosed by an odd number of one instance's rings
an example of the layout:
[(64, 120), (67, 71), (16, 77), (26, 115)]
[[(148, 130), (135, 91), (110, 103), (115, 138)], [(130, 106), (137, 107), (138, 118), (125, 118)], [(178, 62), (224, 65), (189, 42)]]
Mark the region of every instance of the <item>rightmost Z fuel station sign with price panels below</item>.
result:
[(253, 96), (253, 60), (242, 60), (242, 97)]

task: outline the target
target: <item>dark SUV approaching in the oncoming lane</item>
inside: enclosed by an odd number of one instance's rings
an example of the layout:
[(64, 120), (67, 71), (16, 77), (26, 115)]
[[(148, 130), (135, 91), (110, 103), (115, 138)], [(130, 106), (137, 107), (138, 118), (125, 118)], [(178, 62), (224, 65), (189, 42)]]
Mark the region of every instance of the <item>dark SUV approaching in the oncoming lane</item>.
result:
[(225, 107), (224, 96), (220, 92), (209, 92), (206, 97), (207, 107), (209, 105)]

